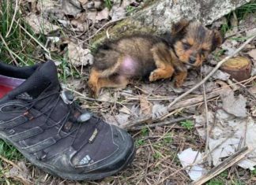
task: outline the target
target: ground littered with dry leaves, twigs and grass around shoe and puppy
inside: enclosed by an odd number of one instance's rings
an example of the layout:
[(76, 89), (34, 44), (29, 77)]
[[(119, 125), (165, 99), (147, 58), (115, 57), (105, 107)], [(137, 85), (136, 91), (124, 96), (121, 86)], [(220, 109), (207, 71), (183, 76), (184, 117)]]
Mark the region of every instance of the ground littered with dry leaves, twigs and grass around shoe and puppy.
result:
[[(86, 83), (93, 62), (91, 53), (96, 49), (93, 36), (151, 2), (60, 2), (0, 2), (0, 60), (19, 66), (55, 61), (63, 87), (73, 91), (83, 108), (127, 129), (134, 138), (137, 154), (133, 163), (115, 176), (74, 182), (48, 175), (0, 140), (1, 184), (187, 184), (193, 181), (191, 176), (204, 176), (244, 146), (256, 142), (255, 38), (235, 55), (251, 64), (251, 72), (243, 83), (220, 68), (198, 89), (171, 106), (165, 117), (140, 121), (154, 117), (160, 109), (167, 110), (175, 98), (197, 85), (219, 61), (250, 39), (256, 31), (256, 1), (209, 26), (222, 31), (227, 39), (201, 68), (189, 72), (183, 87), (175, 88), (171, 80), (134, 81), (122, 91), (104, 89), (97, 99), (89, 98)], [(79, 2), (80, 6), (73, 6), (72, 2)], [(184, 168), (183, 157), (194, 165)], [(256, 184), (255, 157), (252, 151), (242, 162), (224, 168), (206, 184)]]

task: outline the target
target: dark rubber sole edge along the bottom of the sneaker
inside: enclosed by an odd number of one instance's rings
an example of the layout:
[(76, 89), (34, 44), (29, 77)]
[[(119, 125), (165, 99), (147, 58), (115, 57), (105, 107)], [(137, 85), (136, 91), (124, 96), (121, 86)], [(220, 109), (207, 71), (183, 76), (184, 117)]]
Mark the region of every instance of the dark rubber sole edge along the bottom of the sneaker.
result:
[(131, 163), (131, 161), (134, 160), (135, 157), (135, 146), (133, 147), (132, 152), (127, 157), (126, 162), (120, 167), (115, 170), (112, 170), (110, 172), (100, 172), (97, 174), (76, 174), (76, 173), (66, 173), (66, 172), (59, 172), (56, 169), (51, 168), (51, 166), (45, 165), (43, 163), (40, 163), (36, 160), (34, 160), (31, 155), (24, 153), (23, 151), (19, 150), (18, 146), (14, 143), (9, 141), (9, 139), (6, 138), (5, 135), (3, 135), (0, 131), (0, 139), (3, 139), (5, 142), (11, 143), (28, 161), (32, 163), (32, 165), (35, 165), (38, 168), (41, 168), (44, 172), (47, 172), (53, 176), (59, 176), (62, 177), (62, 179), (70, 179), (70, 180), (95, 180), (95, 179), (103, 179), (104, 177), (114, 175), (115, 173), (121, 171), (123, 168), (126, 168), (127, 165)]

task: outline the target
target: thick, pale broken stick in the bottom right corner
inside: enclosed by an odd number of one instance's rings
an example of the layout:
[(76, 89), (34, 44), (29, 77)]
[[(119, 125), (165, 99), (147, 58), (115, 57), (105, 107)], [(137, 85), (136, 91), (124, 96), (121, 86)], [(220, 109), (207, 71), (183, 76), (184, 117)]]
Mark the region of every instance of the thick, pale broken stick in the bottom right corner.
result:
[(241, 150), (239, 150), (235, 154), (232, 154), (232, 156), (228, 157), (228, 159), (220, 163), (220, 165), (212, 168), (207, 174), (205, 174), (205, 176), (202, 176), (200, 179), (191, 183), (191, 185), (200, 185), (207, 182), (209, 179), (212, 179), (214, 176), (217, 176), (225, 169), (231, 167), (232, 165), (235, 165), (235, 163), (242, 160), (244, 157), (246, 157), (247, 154), (250, 153), (251, 150), (252, 149), (248, 148), (248, 146), (243, 147)]

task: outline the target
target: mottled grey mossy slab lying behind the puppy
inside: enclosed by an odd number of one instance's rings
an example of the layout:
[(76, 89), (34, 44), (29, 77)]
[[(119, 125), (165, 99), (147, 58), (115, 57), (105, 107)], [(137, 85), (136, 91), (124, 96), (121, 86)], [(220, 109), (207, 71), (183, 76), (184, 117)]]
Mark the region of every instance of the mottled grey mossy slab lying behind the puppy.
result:
[[(163, 33), (170, 30), (171, 24), (181, 18), (200, 20), (203, 24), (208, 25), (247, 2), (250, 0), (154, 1), (151, 6), (122, 20), (108, 32), (112, 38), (137, 31)], [(102, 33), (102, 35), (96, 36), (94, 43), (100, 43), (105, 38), (106, 34)]]

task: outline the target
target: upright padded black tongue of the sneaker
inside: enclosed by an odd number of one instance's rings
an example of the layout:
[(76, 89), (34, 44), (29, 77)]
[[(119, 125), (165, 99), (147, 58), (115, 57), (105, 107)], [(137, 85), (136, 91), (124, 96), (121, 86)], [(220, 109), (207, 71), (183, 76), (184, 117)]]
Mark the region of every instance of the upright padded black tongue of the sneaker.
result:
[[(47, 89), (47, 90), (46, 90)], [(57, 70), (53, 61), (47, 61), (19, 87), (9, 93), (9, 98), (32, 100), (43, 91), (59, 91)]]

